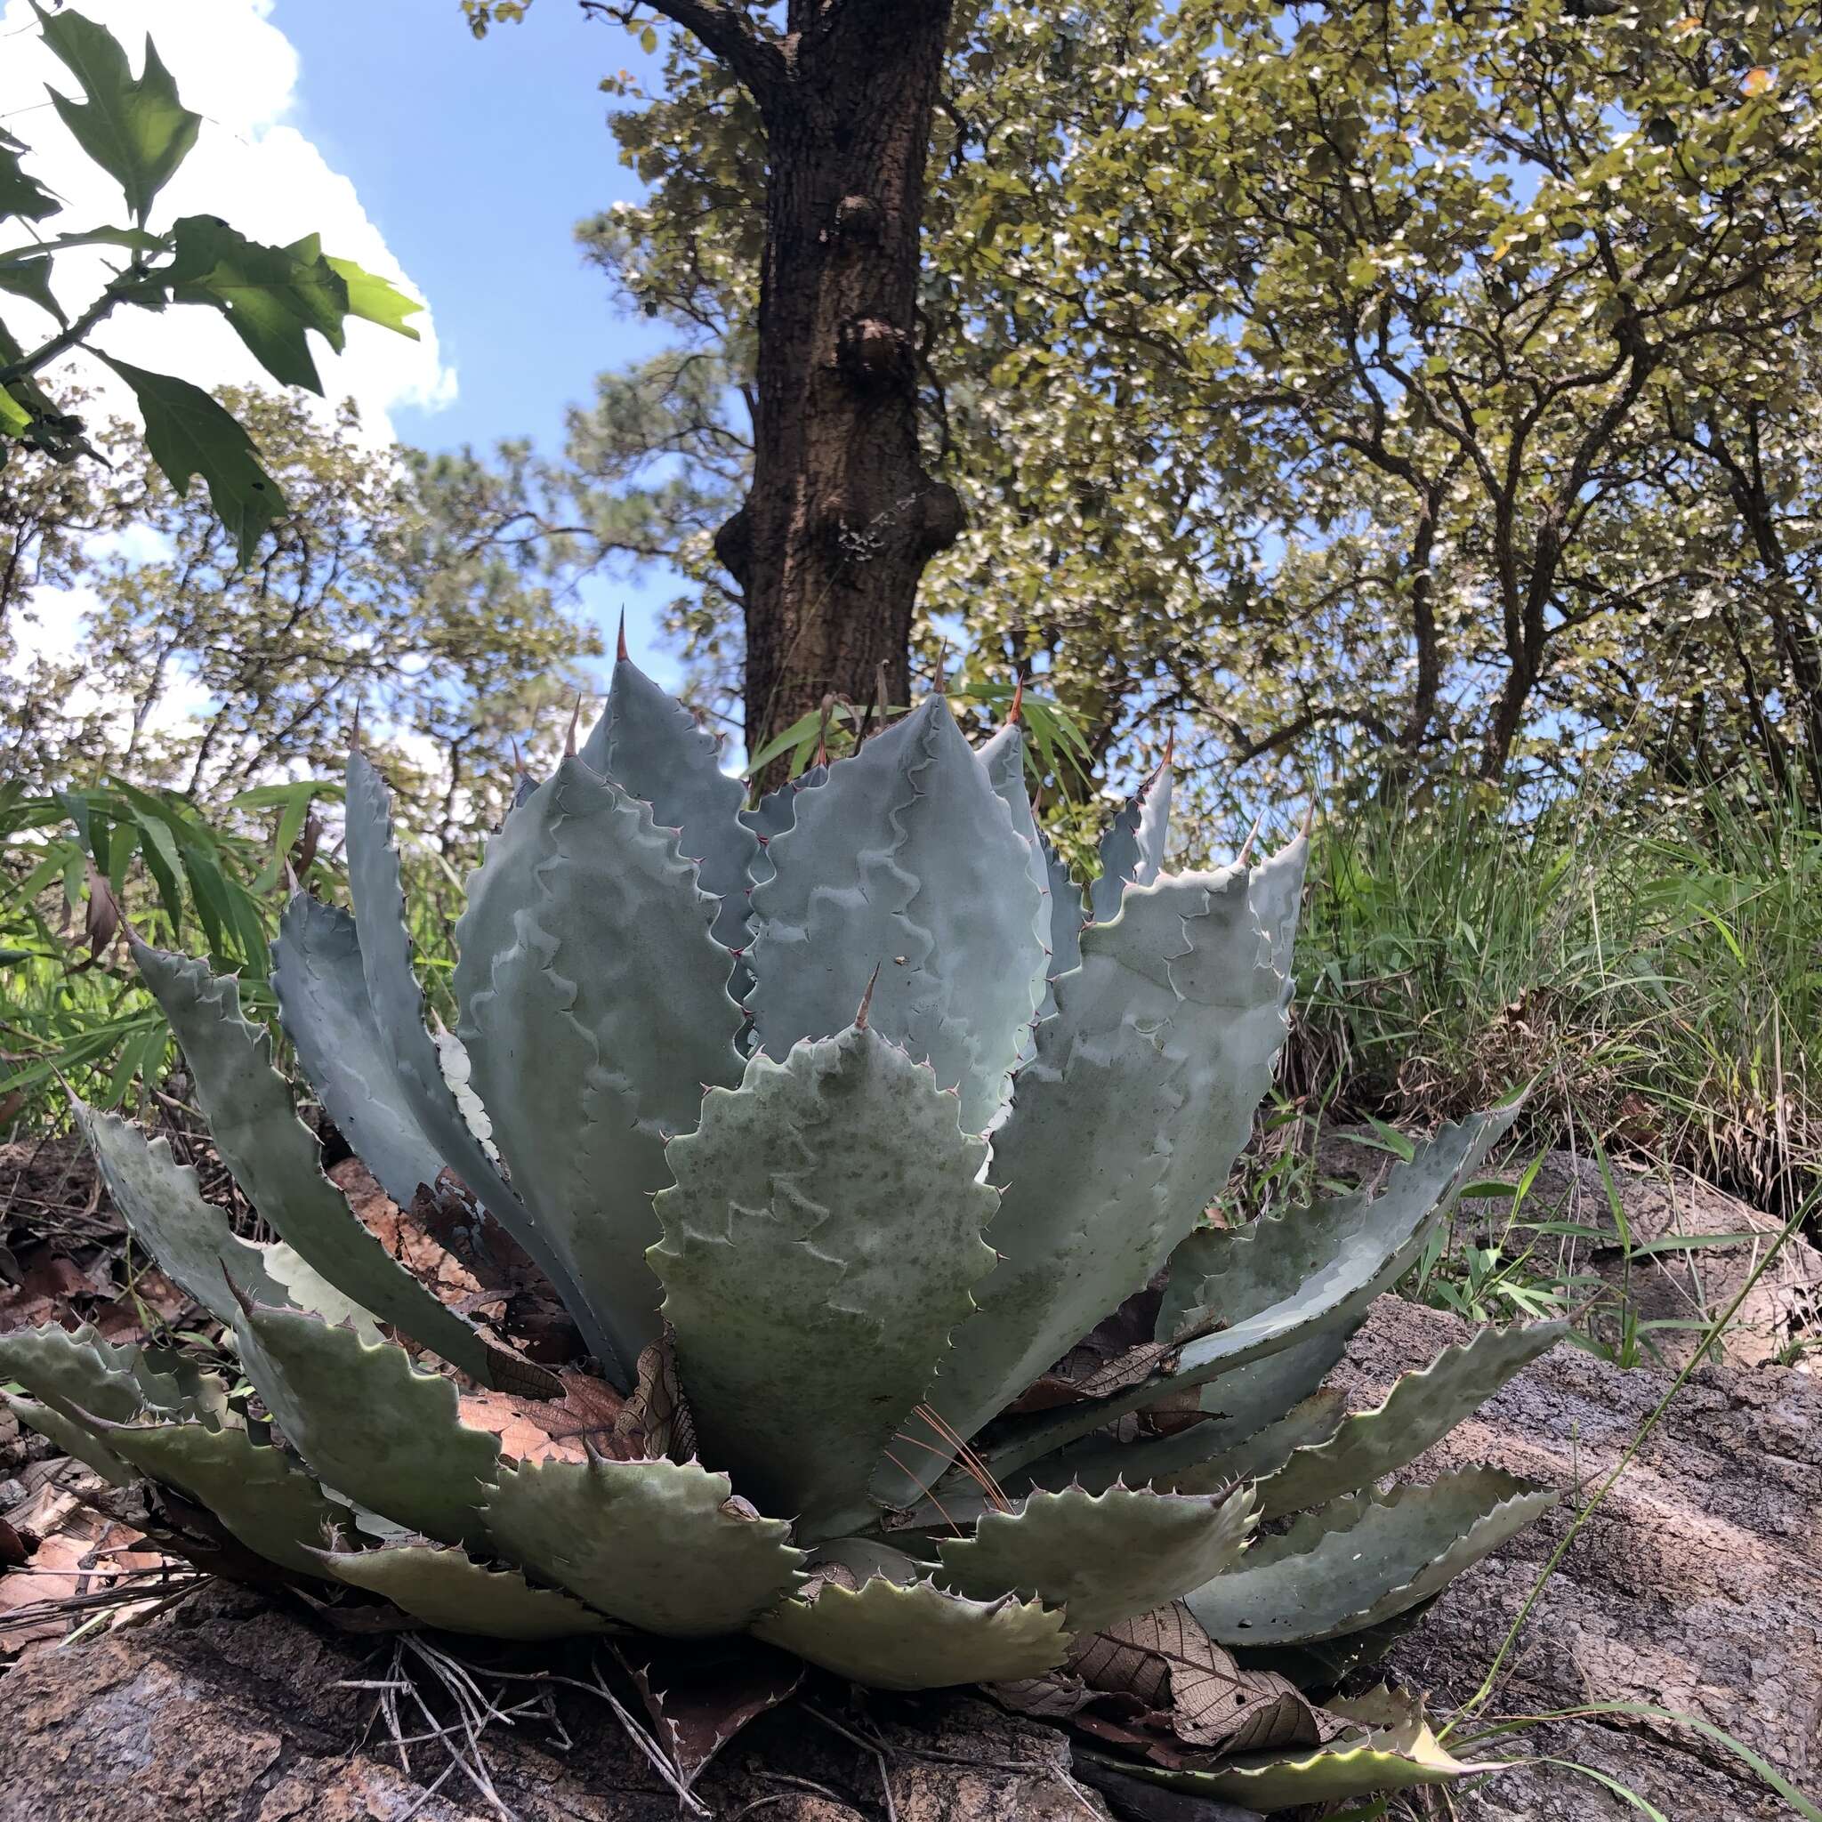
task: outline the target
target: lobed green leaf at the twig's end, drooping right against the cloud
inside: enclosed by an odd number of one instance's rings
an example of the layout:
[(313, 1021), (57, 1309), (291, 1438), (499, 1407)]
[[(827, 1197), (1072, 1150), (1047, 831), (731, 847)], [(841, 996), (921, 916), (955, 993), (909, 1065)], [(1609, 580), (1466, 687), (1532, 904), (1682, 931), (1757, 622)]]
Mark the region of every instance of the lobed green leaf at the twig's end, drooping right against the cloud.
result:
[(213, 215), (184, 215), (171, 233), (171, 297), (213, 304), (279, 384), (321, 394), (306, 332), (315, 330), (341, 353), (348, 286), (322, 257), (317, 237), (262, 246)]

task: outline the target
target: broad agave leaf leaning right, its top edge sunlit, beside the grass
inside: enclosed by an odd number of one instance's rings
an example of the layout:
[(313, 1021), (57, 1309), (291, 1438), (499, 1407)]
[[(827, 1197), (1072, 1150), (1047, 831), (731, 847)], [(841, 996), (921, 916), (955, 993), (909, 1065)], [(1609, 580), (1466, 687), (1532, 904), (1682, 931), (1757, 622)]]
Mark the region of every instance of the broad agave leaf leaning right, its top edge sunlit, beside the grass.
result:
[(1263, 955), (1244, 875), (1133, 887), (1082, 933), (993, 1141), (1000, 1263), (931, 1397), (964, 1436), (1144, 1286), (1226, 1182), (1285, 1039)]

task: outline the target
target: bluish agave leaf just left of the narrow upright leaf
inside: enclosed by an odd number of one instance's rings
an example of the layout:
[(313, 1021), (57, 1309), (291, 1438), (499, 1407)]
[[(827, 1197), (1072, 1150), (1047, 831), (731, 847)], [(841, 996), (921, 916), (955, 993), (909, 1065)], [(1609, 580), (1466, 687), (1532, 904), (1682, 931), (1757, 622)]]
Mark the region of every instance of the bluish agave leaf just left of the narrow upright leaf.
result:
[(435, 1182), (443, 1153), (425, 1137), (374, 1020), (353, 918), (292, 893), (271, 946), (279, 1022), (317, 1100), (401, 1208)]

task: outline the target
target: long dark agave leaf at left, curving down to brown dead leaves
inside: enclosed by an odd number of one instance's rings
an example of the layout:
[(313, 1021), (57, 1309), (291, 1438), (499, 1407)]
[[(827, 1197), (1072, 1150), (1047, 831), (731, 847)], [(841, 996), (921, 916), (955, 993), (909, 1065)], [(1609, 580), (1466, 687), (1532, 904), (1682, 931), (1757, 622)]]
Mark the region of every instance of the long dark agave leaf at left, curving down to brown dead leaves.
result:
[[(215, 1148), (261, 1219), (353, 1306), (372, 1310), (463, 1372), (486, 1385), (548, 1390), (548, 1374), (490, 1346), (419, 1285), (322, 1175), (317, 1137), (271, 1066), (266, 1028), (242, 1017), (235, 980), (211, 975), (208, 962), (144, 944), (133, 946), (133, 958), (182, 1044)], [(241, 1288), (251, 1294), (250, 1285)], [(217, 1305), (210, 1308), (230, 1319)], [(339, 1315), (324, 1314), (332, 1321)]]

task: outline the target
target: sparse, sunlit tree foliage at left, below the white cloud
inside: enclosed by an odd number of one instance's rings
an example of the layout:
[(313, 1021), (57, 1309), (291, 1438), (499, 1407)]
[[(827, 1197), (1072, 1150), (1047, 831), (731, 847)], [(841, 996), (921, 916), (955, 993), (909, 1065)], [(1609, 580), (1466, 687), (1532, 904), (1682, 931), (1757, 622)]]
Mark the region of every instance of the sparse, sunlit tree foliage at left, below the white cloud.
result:
[(222, 404), (286, 497), (253, 568), (128, 426), (109, 439), (113, 468), (27, 452), (0, 476), (15, 629), (29, 583), (80, 579), (95, 598), (67, 656), (15, 663), (0, 771), (29, 785), (117, 773), (220, 811), (275, 778), (337, 776), (364, 714), (408, 825), (468, 853), (512, 793), (512, 736), (548, 754), (578, 663), (601, 650), (514, 559), (510, 466), (374, 448), (352, 403), (332, 425), (295, 397)]

